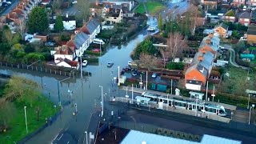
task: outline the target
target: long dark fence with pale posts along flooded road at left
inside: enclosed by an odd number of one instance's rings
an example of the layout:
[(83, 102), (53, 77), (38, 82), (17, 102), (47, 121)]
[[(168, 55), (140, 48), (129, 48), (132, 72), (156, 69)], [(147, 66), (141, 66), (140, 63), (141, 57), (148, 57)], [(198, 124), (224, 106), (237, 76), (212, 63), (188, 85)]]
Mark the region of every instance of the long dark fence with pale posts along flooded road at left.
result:
[(25, 64), (17, 64), (16, 65), (16, 64), (6, 63), (6, 62), (0, 62), (0, 66), (7, 66), (7, 67), (12, 67), (12, 68), (17, 68), (17, 69), (24, 69), (24, 70), (34, 70), (34, 71), (39, 71), (39, 72), (43, 72), (43, 73), (56, 74), (56, 75), (62, 75), (62, 76), (67, 76), (67, 77), (74, 76), (74, 74), (75, 74), (74, 71), (66, 72), (66, 71), (62, 71), (62, 70), (53, 70), (53, 69), (49, 69), (49, 68), (44, 68), (41, 66), (28, 66)]

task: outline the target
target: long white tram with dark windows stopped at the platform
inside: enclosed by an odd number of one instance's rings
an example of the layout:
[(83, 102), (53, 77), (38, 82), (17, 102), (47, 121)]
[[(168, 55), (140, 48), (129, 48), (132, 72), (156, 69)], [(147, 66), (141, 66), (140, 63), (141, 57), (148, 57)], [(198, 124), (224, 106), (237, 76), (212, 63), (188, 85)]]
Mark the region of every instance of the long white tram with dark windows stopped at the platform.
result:
[(226, 116), (226, 111), (224, 106), (214, 105), (207, 102), (202, 102), (198, 99), (186, 99), (186, 98), (174, 98), (162, 96), (159, 94), (152, 94), (148, 92), (143, 92), (142, 97), (150, 98), (150, 103), (158, 104), (162, 102), (163, 106), (174, 106), (186, 110), (201, 111), (205, 114), (215, 114), (219, 116)]

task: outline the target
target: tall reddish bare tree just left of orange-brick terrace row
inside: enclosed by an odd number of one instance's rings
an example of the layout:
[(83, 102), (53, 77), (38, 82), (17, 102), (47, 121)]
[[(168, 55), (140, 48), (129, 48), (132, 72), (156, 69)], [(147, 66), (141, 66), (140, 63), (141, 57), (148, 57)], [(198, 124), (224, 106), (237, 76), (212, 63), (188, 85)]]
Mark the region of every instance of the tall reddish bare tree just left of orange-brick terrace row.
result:
[(187, 46), (186, 38), (182, 36), (179, 32), (170, 34), (170, 38), (167, 39), (168, 46), (170, 46), (170, 57), (172, 61), (176, 58), (177, 54), (181, 54), (182, 50)]

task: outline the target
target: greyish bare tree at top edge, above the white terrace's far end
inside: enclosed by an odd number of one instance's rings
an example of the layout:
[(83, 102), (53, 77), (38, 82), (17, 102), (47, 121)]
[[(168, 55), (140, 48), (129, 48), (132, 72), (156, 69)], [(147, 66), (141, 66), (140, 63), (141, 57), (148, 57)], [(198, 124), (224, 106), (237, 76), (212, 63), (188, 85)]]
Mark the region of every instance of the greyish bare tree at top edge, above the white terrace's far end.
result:
[(76, 4), (76, 8), (78, 10), (78, 14), (76, 14), (77, 18), (82, 20), (84, 23), (90, 14), (90, 2), (89, 0), (78, 0)]

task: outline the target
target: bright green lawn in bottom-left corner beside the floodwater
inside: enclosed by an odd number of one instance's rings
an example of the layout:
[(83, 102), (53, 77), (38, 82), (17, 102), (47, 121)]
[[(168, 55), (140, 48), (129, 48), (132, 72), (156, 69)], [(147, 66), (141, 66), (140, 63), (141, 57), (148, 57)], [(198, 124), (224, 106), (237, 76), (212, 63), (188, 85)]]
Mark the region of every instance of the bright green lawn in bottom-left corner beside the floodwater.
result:
[[(5, 144), (13, 144), (26, 137), (24, 106), (26, 106), (26, 118), (29, 134), (34, 132), (35, 130), (38, 130), (39, 127), (45, 124), (45, 118), (53, 116), (58, 111), (58, 107), (55, 109), (54, 104), (50, 102), (48, 98), (43, 96), (37, 99), (37, 101), (33, 103), (32, 107), (30, 107), (30, 104), (25, 104), (24, 102), (14, 102), (14, 106), (16, 106), (15, 117), (10, 122), (10, 129), (6, 130), (5, 133), (0, 134), (1, 144), (2, 142), (4, 142)], [(37, 107), (39, 107), (40, 111), (39, 121), (37, 121)]]

